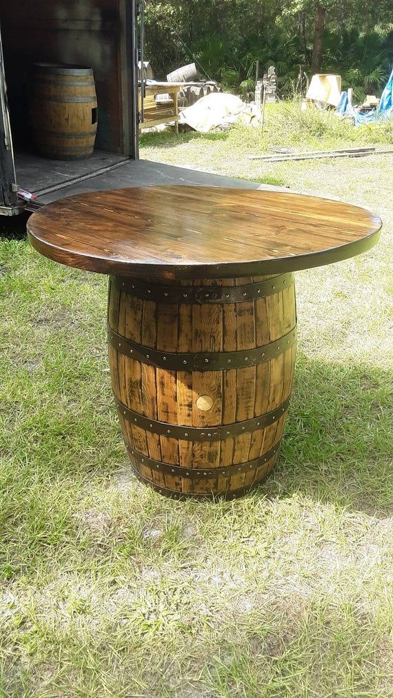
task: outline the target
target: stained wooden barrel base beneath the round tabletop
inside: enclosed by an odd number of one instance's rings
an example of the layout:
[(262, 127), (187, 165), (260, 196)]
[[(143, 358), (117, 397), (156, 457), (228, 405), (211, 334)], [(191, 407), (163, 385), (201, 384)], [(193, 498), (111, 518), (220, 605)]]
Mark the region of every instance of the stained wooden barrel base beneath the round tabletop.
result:
[(157, 283), (110, 278), (112, 387), (140, 480), (234, 498), (272, 469), (296, 350), (293, 274)]

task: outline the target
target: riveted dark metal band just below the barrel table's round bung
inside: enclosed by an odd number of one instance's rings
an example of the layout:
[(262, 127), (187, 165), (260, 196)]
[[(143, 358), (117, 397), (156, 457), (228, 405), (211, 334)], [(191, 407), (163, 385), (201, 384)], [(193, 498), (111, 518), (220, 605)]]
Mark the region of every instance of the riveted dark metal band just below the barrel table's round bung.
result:
[(140, 429), (149, 431), (159, 436), (168, 436), (169, 438), (177, 438), (184, 441), (221, 441), (234, 436), (241, 436), (244, 433), (265, 429), (265, 426), (274, 424), (288, 410), (290, 399), (281, 403), (279, 407), (272, 412), (267, 412), (260, 417), (246, 419), (244, 422), (235, 422), (234, 424), (223, 424), (220, 426), (179, 426), (178, 424), (169, 424), (169, 422), (158, 422), (157, 419), (144, 417), (138, 412), (133, 412), (126, 405), (121, 403), (115, 396), (119, 415), (128, 419), (131, 426), (139, 426)]

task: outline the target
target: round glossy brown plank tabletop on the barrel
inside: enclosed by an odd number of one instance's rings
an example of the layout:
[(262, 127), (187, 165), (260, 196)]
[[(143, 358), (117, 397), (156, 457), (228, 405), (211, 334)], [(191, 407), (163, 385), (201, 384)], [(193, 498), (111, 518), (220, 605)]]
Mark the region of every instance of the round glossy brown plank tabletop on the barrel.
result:
[(378, 216), (276, 191), (151, 186), (80, 194), (36, 211), (31, 244), (62, 264), (150, 279), (306, 269), (371, 248)]

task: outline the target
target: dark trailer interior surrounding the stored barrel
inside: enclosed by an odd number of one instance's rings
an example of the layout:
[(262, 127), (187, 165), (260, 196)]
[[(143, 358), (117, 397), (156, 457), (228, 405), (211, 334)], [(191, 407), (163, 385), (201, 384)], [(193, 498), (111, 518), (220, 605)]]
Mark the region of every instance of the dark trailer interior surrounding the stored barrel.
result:
[[(0, 0), (0, 21), (20, 188), (50, 193), (138, 157), (133, 0)], [(27, 91), (36, 62), (93, 68), (98, 100), (93, 156), (59, 161), (34, 153)]]

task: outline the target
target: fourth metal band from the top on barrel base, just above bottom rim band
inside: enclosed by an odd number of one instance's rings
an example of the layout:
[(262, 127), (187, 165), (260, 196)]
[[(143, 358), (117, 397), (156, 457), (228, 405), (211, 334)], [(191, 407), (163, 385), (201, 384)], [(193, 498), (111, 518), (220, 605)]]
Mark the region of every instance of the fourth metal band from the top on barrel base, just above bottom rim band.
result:
[(227, 477), (229, 475), (247, 473), (249, 470), (258, 470), (258, 468), (265, 466), (265, 464), (276, 455), (279, 450), (279, 443), (253, 461), (237, 463), (235, 466), (223, 466), (222, 468), (186, 468), (185, 466), (173, 466), (170, 463), (154, 461), (148, 456), (144, 456), (142, 453), (135, 451), (128, 443), (126, 443), (126, 447), (131, 459), (138, 463), (138, 466), (147, 466), (153, 470), (157, 470), (159, 473), (186, 477), (190, 480), (210, 480), (212, 477)]

